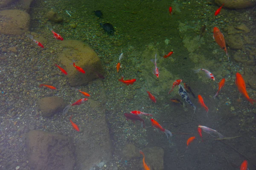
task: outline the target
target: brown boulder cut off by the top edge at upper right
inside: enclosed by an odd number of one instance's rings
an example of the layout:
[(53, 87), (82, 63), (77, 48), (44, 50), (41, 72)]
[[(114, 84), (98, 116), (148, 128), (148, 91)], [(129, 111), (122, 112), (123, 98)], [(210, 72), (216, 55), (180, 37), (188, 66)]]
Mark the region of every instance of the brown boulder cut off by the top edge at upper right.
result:
[(256, 0), (215, 0), (218, 6), (225, 4), (224, 8), (241, 9), (250, 8), (256, 5)]

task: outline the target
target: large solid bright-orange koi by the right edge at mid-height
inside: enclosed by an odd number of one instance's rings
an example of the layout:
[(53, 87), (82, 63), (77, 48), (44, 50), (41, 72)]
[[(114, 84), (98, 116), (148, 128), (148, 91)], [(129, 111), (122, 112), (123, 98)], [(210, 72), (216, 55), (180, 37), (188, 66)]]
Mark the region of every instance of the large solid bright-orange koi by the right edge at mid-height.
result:
[(250, 99), (249, 95), (247, 94), (245, 82), (240, 73), (236, 73), (236, 86), (238, 88), (238, 91), (243, 94), (243, 96), (253, 105), (253, 103), (256, 103), (256, 100)]

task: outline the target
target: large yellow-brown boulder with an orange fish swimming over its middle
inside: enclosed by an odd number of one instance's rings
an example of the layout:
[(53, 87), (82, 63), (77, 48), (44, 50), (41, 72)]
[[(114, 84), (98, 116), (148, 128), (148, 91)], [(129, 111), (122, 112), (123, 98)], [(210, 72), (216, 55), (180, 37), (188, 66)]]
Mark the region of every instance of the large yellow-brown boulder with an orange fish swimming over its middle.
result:
[[(102, 63), (98, 55), (84, 42), (64, 40), (59, 41), (58, 45), (63, 48), (58, 57), (68, 73), (67, 78), (71, 87), (87, 85), (93, 79), (99, 78), (99, 74), (103, 74)], [(75, 65), (85, 71), (85, 74), (77, 71), (73, 64), (70, 64), (73, 60), (75, 60)]]

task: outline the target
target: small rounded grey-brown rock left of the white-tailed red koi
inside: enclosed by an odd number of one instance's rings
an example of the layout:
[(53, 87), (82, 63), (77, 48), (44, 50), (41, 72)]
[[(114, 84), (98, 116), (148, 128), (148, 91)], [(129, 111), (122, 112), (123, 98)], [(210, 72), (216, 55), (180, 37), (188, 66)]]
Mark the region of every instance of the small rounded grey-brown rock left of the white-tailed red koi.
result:
[(42, 111), (42, 116), (50, 117), (55, 113), (63, 111), (65, 107), (64, 100), (57, 97), (44, 97), (37, 102), (39, 109)]

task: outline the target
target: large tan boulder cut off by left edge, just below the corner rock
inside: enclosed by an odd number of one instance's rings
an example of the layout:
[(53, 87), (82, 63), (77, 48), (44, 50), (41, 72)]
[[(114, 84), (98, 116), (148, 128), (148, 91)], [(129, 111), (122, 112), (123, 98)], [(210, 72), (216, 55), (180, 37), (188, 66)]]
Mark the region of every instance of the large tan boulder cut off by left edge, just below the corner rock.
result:
[(17, 9), (0, 11), (0, 34), (21, 35), (29, 30), (29, 14)]

